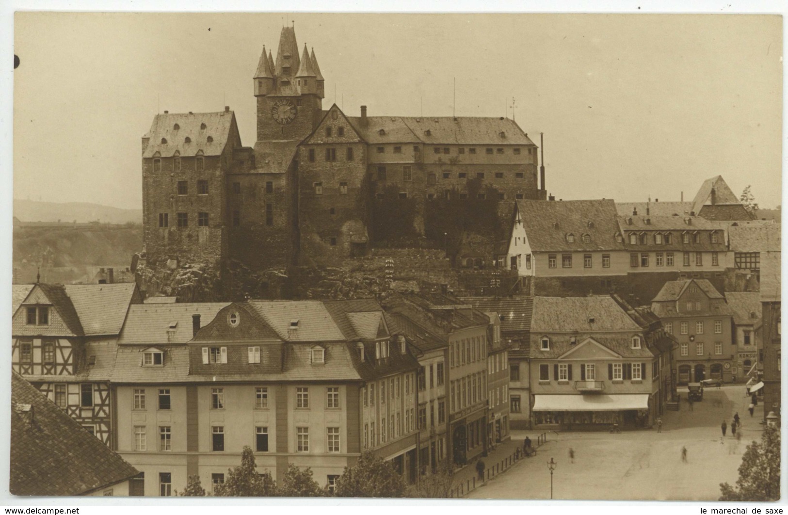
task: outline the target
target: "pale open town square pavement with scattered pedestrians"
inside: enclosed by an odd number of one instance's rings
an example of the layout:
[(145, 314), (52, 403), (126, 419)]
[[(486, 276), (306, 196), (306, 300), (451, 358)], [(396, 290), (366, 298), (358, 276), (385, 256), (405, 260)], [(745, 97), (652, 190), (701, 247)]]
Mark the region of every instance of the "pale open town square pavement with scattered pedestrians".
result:
[[(686, 398), (686, 388), (682, 398)], [(743, 386), (727, 386), (704, 391), (702, 402), (689, 410), (682, 402), (678, 412), (662, 417), (662, 432), (627, 431), (559, 432), (548, 436), (548, 443), (535, 458), (516, 463), (510, 470), (471, 491), (467, 498), (550, 498), (550, 473), (547, 461), (558, 465), (553, 476), (556, 499), (608, 500), (697, 500), (719, 498), (719, 484), (734, 484), (742, 453), (753, 440), (760, 439), (763, 406), (749, 416)], [(738, 411), (742, 419), (742, 441), (730, 433), (730, 421)], [(723, 439), (720, 424), (725, 420)], [(535, 439), (541, 431), (515, 431), (511, 438), (522, 442), (526, 435)], [(687, 462), (681, 459), (682, 446)], [(574, 463), (569, 450), (574, 450)]]

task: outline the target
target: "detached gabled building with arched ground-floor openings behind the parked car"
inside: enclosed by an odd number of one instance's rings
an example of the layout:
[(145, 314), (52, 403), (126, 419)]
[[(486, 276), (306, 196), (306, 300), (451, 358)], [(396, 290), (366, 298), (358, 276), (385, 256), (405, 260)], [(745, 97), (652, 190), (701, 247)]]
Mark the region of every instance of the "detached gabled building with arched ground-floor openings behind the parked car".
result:
[(730, 381), (737, 363), (733, 313), (723, 295), (703, 279), (668, 281), (652, 300), (652, 311), (674, 335), (678, 384), (704, 379)]

